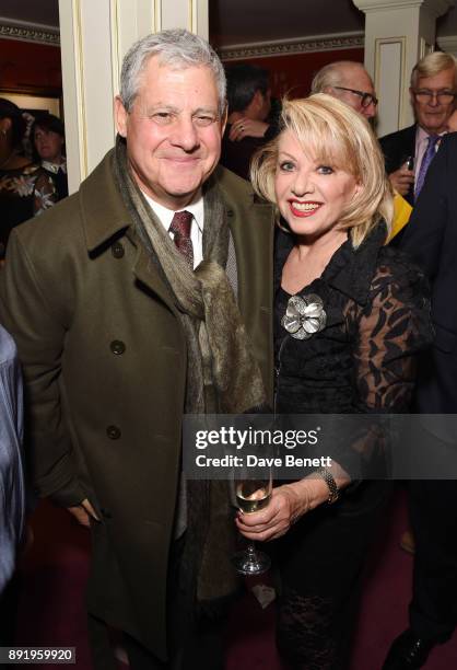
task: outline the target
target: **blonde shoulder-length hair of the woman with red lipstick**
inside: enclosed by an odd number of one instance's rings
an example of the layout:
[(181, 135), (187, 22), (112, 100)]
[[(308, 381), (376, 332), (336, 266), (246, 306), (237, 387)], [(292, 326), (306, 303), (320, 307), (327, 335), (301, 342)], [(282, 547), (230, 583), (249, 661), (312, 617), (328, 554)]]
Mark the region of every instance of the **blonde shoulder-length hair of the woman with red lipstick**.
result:
[(253, 186), (262, 198), (276, 204), (279, 139), (286, 131), (297, 138), (308, 158), (352, 174), (360, 185), (338, 221), (340, 230), (350, 231), (354, 249), (382, 219), (390, 230), (392, 192), (377, 139), (362, 115), (325, 93), (283, 101), (280, 135), (251, 163)]

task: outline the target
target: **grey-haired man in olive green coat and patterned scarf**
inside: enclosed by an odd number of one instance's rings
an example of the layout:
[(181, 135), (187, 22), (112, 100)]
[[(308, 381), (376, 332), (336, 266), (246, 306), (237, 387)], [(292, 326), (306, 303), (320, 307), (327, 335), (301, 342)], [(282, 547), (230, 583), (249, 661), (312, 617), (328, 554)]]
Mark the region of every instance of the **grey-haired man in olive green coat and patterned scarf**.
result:
[(114, 667), (108, 624), (132, 668), (184, 668), (198, 638), (169, 612), (176, 564), (194, 566), (183, 584), (198, 600), (224, 599), (230, 542), (211, 540), (234, 524), (214, 492), (183, 482), (183, 416), (271, 394), (272, 212), (216, 168), (225, 80), (204, 41), (164, 31), (133, 45), (115, 105), (116, 148), (13, 232), (1, 313), (24, 367), (36, 487), (91, 525), (95, 667)]

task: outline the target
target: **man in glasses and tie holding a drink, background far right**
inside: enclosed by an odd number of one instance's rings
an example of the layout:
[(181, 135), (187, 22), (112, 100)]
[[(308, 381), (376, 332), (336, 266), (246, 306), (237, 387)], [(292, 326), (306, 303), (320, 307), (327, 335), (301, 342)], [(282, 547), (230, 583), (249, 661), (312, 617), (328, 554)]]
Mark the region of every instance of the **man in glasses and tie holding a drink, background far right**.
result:
[(435, 51), (422, 58), (412, 70), (410, 93), (415, 124), (386, 135), (379, 142), (391, 185), (414, 205), (455, 109), (457, 67), (454, 56)]

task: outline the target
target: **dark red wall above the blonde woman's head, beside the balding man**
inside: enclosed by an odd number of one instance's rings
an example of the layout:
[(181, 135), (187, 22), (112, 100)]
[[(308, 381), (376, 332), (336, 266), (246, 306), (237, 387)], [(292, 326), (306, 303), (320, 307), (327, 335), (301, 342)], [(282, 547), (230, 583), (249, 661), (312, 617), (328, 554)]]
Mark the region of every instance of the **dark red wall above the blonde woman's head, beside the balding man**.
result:
[[(290, 97), (304, 97), (309, 93), (310, 82), (317, 70), (336, 60), (356, 60), (363, 62), (363, 48), (289, 54), (286, 56), (249, 58), (245, 60), (259, 65), (270, 71), (273, 97), (282, 97), (284, 93), (289, 93)], [(234, 61), (227, 61), (226, 65), (228, 66), (230, 62)]]

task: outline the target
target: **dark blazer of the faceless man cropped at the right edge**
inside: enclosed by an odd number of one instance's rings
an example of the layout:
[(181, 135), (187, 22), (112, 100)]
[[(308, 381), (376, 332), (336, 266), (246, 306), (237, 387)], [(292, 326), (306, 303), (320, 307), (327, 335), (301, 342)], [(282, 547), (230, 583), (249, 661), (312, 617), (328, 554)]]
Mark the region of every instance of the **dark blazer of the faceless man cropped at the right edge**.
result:
[(432, 285), (435, 339), (421, 372), (421, 412), (457, 413), (457, 132), (443, 138), (425, 177), (400, 249)]

